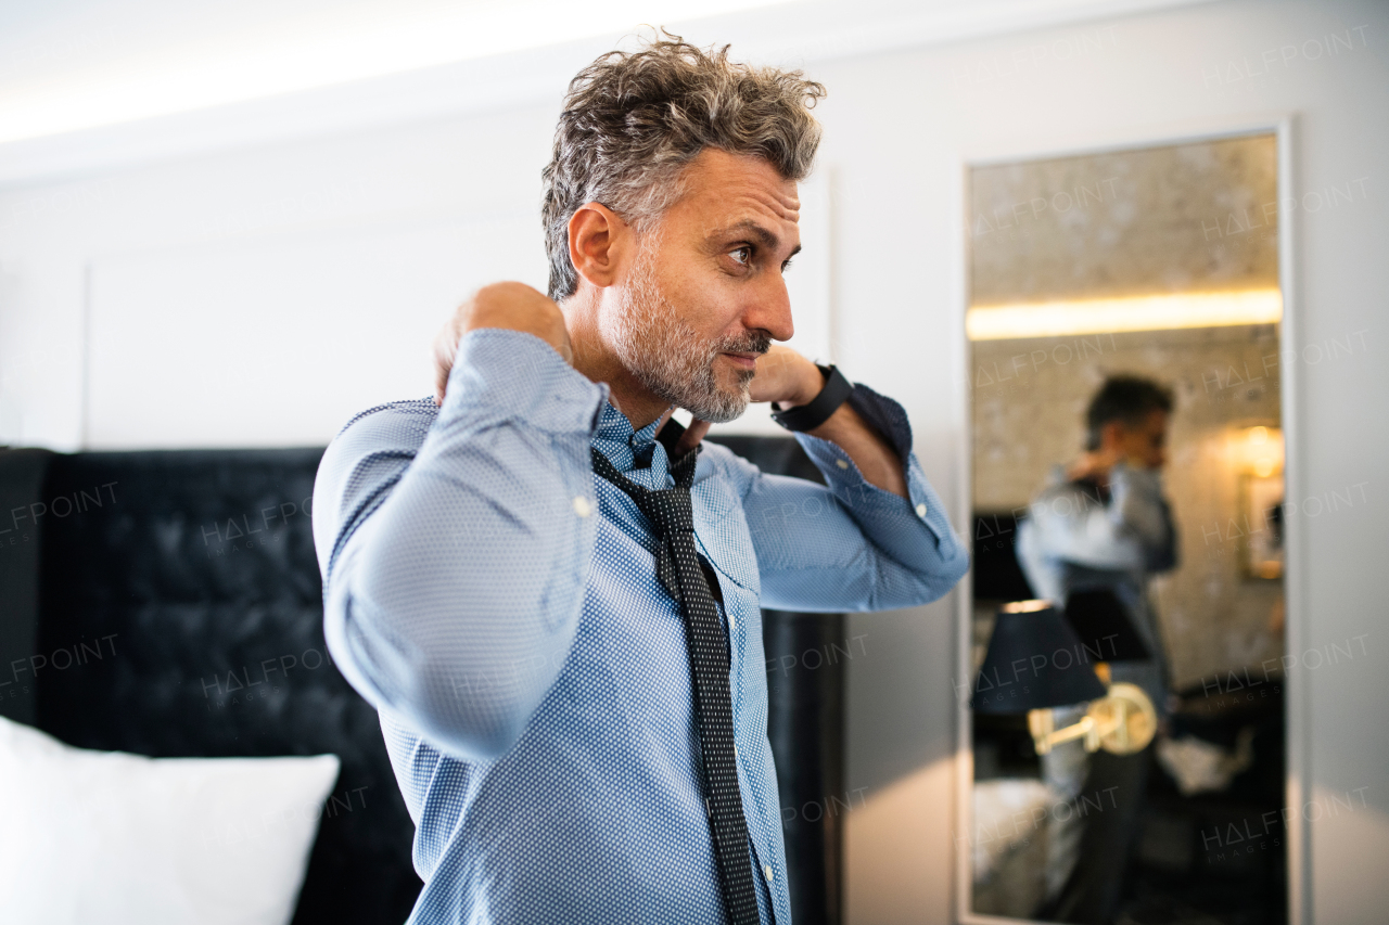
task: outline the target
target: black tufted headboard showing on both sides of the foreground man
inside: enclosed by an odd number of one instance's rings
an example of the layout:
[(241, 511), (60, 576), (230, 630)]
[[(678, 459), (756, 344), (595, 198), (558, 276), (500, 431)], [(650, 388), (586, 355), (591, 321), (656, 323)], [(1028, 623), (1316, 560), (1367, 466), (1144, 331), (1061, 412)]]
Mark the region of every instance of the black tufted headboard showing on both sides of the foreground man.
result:
[[(786, 438), (725, 439), (818, 479)], [(335, 753), (294, 925), (393, 925), (419, 879), (376, 712), (326, 660), (310, 507), (322, 449), (0, 449), (0, 715), (157, 757)], [(845, 664), (835, 614), (764, 611), (792, 906), (838, 922)], [(840, 803), (836, 803), (840, 801)], [(808, 807), (808, 808), (807, 808)]]

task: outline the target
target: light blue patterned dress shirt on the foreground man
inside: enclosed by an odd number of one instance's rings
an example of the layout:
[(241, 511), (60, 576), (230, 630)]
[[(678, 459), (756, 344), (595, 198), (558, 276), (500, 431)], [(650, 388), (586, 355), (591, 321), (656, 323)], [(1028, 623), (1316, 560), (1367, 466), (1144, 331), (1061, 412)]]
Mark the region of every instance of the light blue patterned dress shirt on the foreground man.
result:
[[(415, 821), (411, 922), (724, 921), (682, 617), (649, 525), (589, 447), (646, 488), (674, 481), (656, 425), (633, 433), (607, 394), (538, 338), (474, 331), (442, 408), (365, 411), (319, 467), (328, 646), (378, 708)], [(968, 567), (901, 408), (854, 401), (908, 460), (910, 500), (806, 435), (828, 489), (711, 443), (692, 489), (767, 924), (790, 922), (790, 901), (760, 606), (908, 607)]]

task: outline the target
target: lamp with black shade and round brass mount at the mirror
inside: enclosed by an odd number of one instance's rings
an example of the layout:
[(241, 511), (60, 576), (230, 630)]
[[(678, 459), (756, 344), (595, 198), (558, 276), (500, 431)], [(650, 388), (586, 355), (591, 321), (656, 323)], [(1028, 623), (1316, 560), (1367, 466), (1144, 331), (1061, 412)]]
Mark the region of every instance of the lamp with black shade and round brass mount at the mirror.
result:
[[(1108, 665), (1092, 662), (1095, 651), (1050, 601), (1004, 604), (970, 707), (978, 712), (1026, 712), (1038, 754), (1074, 739), (1082, 739), (1088, 751), (1140, 751), (1157, 732), (1153, 701), (1135, 685), (1115, 683), (1106, 690)], [(1063, 729), (1054, 726), (1051, 707), (1086, 701), (1089, 707), (1079, 722)]]

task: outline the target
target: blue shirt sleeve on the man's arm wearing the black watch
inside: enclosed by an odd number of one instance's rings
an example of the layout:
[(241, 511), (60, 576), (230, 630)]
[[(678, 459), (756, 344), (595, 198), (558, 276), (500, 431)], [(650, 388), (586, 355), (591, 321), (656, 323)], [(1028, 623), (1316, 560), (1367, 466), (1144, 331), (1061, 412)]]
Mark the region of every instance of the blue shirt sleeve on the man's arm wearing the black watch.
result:
[(942, 597), (970, 568), (945, 504), (911, 451), (901, 406), (863, 385), (850, 403), (904, 460), (907, 497), (871, 485), (845, 450), (807, 433), (796, 439), (826, 485), (765, 475), (749, 464), (743, 508), (767, 607), (911, 607)]

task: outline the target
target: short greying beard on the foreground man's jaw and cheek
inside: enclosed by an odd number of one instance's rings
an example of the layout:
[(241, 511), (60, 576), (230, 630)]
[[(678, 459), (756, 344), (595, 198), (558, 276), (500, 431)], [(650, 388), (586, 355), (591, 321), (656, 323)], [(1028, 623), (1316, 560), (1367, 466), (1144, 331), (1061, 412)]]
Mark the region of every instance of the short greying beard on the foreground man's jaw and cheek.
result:
[[(654, 243), (654, 242), (651, 242)], [(617, 358), (646, 389), (696, 418), (726, 424), (747, 410), (754, 369), (736, 369), (732, 386), (720, 386), (714, 361), (721, 353), (767, 353), (765, 333), (704, 339), (665, 299), (656, 281), (654, 247), (636, 256), (618, 311), (604, 325)]]

